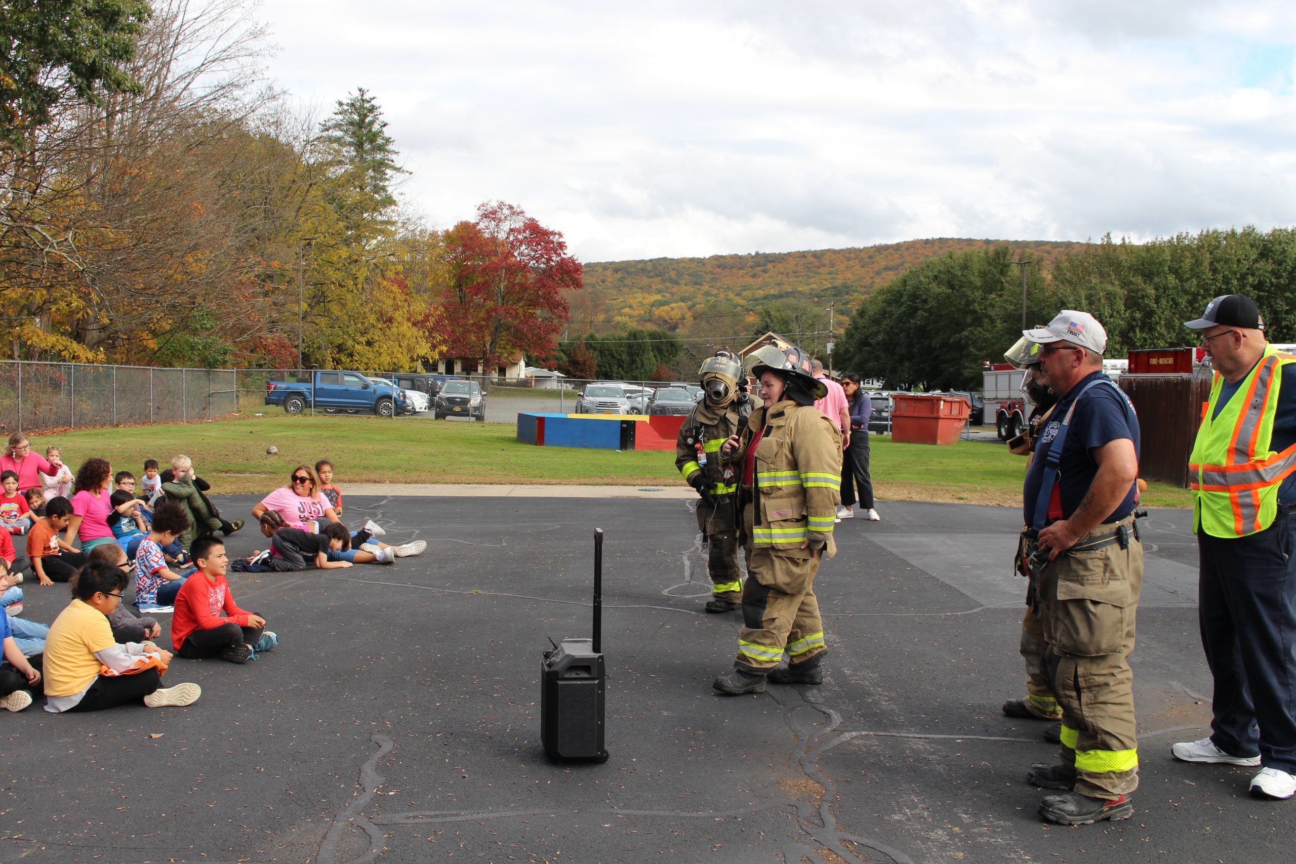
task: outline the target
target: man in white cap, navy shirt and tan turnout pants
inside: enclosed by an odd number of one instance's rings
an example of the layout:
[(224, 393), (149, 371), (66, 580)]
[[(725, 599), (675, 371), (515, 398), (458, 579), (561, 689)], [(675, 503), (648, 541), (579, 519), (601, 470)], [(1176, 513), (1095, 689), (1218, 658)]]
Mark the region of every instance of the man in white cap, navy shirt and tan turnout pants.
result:
[(1023, 497), (1046, 665), (1061, 707), (1060, 762), (1034, 764), (1026, 779), (1064, 793), (1039, 803), (1047, 821), (1128, 819), (1138, 788), (1129, 666), (1143, 585), (1138, 417), (1103, 374), (1107, 332), (1093, 315), (1063, 310), (1023, 335), (1039, 347), (1038, 377), (1058, 395)]

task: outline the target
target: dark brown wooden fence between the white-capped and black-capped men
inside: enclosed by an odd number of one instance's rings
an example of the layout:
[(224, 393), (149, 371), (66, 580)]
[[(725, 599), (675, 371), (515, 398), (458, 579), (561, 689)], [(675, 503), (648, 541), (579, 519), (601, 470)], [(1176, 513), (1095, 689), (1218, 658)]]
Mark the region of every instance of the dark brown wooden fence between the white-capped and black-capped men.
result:
[(1210, 378), (1187, 374), (1124, 374), (1117, 381), (1138, 412), (1139, 477), (1188, 484), (1188, 453), (1201, 425)]

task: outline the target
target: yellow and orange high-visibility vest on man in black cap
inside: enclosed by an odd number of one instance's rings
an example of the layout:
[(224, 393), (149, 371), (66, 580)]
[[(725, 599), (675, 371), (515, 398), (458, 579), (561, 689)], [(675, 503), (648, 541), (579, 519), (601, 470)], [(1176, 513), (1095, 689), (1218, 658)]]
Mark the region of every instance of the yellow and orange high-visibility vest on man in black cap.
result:
[(1218, 417), (1223, 376), (1216, 373), (1207, 415), (1188, 457), (1194, 531), (1242, 538), (1274, 523), (1278, 487), (1296, 472), (1296, 444), (1280, 453), (1270, 449), (1282, 369), (1291, 363), (1296, 356), (1267, 346)]

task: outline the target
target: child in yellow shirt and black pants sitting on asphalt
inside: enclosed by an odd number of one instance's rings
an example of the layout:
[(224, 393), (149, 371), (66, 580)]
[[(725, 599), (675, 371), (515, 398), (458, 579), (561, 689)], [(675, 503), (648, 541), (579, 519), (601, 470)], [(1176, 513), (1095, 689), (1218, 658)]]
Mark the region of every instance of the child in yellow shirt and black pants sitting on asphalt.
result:
[(76, 597), (49, 627), (45, 640), (45, 710), (95, 711), (144, 701), (150, 709), (192, 705), (197, 684), (162, 688), (171, 653), (153, 642), (118, 644), (108, 617), (122, 602), (126, 574), (104, 561), (76, 576)]

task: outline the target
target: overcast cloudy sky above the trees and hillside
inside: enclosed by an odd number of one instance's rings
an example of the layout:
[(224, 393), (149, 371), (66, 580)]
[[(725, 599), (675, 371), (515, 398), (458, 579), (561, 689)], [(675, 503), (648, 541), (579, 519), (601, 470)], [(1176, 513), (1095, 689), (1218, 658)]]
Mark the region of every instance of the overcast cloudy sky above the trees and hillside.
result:
[(437, 227), (582, 260), (1296, 224), (1296, 4), (264, 0), (270, 74), (382, 105)]

